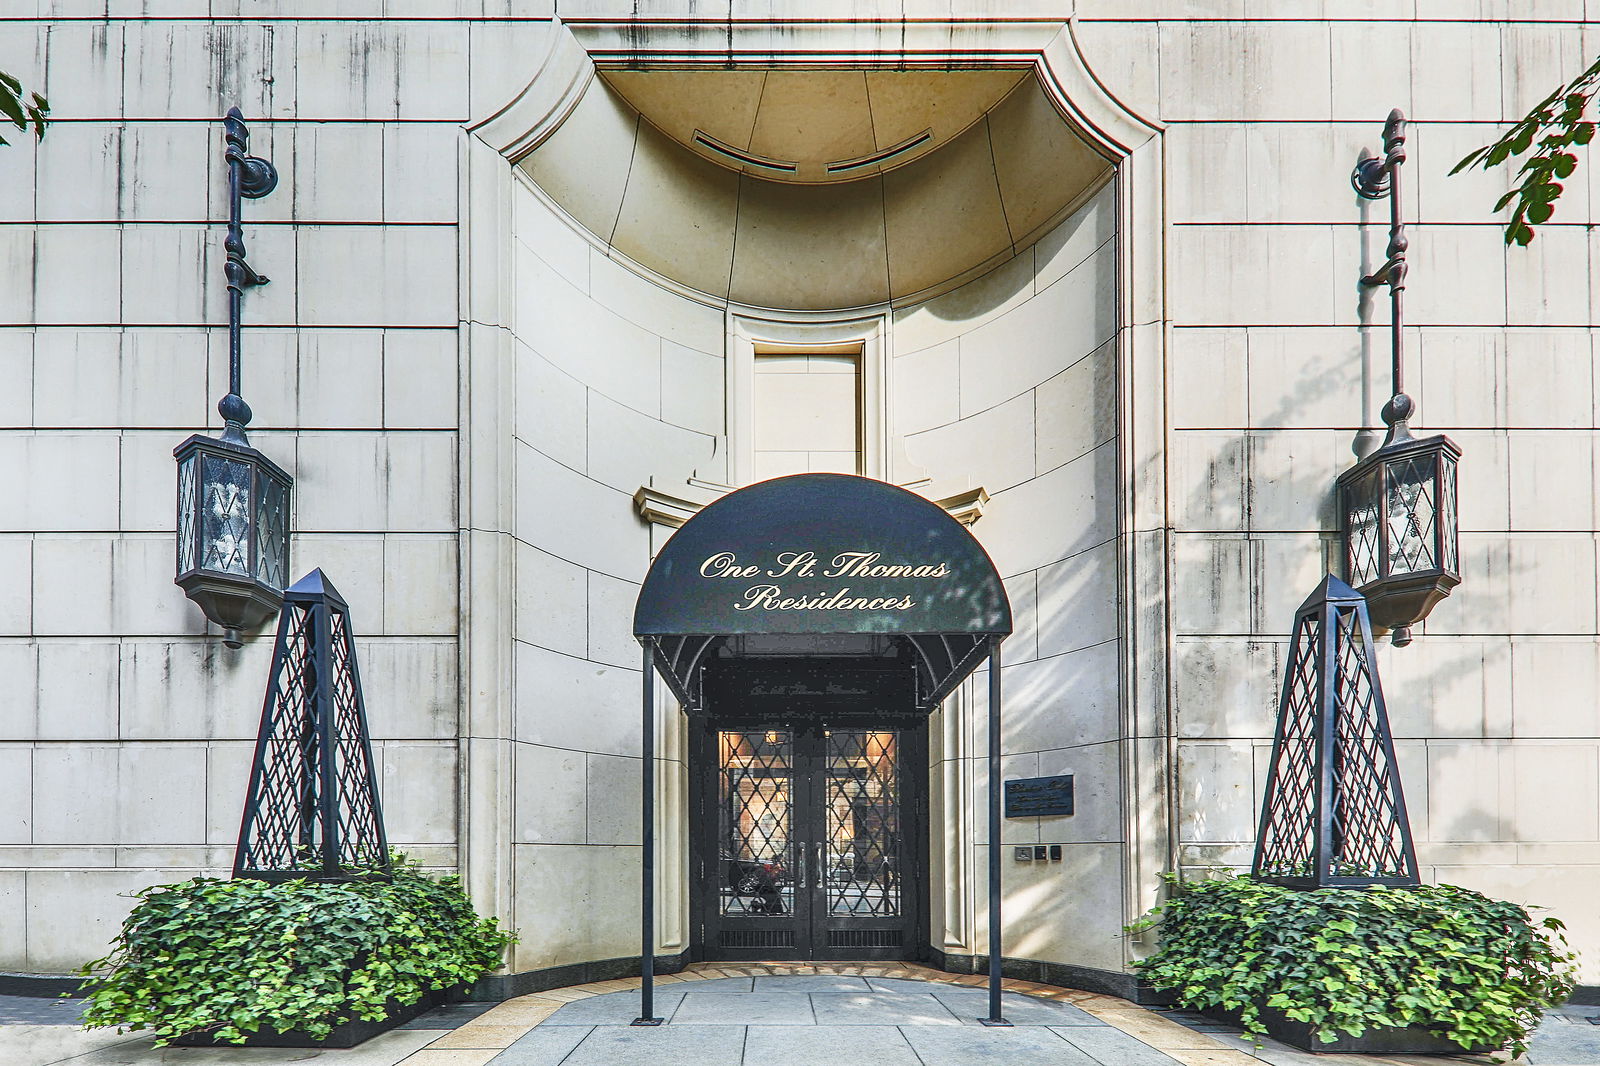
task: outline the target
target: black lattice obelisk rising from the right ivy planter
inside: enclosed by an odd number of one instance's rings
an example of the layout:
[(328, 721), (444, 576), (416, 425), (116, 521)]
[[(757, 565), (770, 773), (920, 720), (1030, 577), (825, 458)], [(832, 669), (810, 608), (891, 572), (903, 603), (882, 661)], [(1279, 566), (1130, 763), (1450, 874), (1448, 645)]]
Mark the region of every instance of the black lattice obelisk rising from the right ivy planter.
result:
[(1418, 884), (1366, 600), (1333, 575), (1294, 615), (1251, 872), (1294, 888)]

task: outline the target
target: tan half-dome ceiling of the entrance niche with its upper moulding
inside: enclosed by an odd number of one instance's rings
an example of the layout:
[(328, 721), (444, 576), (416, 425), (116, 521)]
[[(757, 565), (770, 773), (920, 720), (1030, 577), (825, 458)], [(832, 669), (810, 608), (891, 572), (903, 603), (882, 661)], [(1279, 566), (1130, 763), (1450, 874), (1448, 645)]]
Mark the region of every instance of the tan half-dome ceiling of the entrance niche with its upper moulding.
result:
[(1027, 248), (1154, 133), (1059, 22), (914, 59), (931, 42), (838, 38), (859, 26), (789, 26), (795, 51), (768, 35), (749, 54), (730, 54), (726, 24), (706, 54), (683, 45), (709, 32), (664, 35), (666, 51), (621, 29), (557, 29), (528, 90), (475, 133), (611, 253), (718, 301), (816, 311), (947, 291)]

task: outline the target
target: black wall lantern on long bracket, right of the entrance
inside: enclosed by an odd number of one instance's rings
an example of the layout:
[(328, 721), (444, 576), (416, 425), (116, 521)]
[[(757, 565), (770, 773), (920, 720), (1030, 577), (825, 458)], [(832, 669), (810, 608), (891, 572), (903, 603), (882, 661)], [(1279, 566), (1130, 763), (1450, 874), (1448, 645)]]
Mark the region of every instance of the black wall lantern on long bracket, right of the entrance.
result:
[(1382, 408), (1389, 434), (1382, 447), (1339, 475), (1339, 531), (1344, 579), (1366, 597), (1371, 621), (1392, 632), (1395, 647), (1411, 643), (1411, 626), (1461, 584), (1456, 466), (1461, 448), (1437, 434), (1411, 435), (1416, 407), (1405, 394), (1402, 304), (1406, 235), (1400, 222), (1400, 165), (1405, 163), (1405, 115), (1389, 112), (1384, 157), (1355, 165), (1350, 184), (1368, 198), (1389, 197), (1387, 259), (1362, 285), (1389, 287), (1390, 397)]

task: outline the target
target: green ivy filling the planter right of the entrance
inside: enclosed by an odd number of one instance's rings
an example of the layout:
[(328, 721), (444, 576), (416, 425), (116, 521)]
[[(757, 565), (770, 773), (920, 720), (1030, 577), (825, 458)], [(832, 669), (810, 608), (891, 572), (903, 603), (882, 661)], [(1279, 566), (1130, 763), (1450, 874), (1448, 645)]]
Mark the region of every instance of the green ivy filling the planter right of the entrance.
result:
[(1526, 1050), (1539, 1015), (1566, 999), (1574, 959), (1554, 917), (1454, 885), (1283, 888), (1250, 877), (1173, 882), (1176, 895), (1130, 930), (1155, 927), (1139, 975), (1181, 1007), (1262, 1008), (1322, 1042), (1421, 1026), (1464, 1048)]

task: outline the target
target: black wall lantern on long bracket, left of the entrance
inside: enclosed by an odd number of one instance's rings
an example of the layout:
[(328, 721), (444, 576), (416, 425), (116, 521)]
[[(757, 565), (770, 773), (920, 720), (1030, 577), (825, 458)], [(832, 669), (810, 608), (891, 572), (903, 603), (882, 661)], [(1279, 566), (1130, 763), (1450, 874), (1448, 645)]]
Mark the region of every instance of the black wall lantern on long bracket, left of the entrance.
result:
[(195, 434), (173, 450), (178, 459), (178, 576), (174, 583), (222, 627), (222, 643), (242, 645), (283, 603), (290, 571), (290, 514), (294, 479), (250, 447), (250, 405), (240, 395), (240, 307), (246, 288), (266, 285), (245, 261), (240, 198), (259, 198), (278, 184), (264, 158), (248, 154), (250, 128), (237, 107), (222, 120), (227, 144), (227, 395), (218, 402), (222, 435)]

